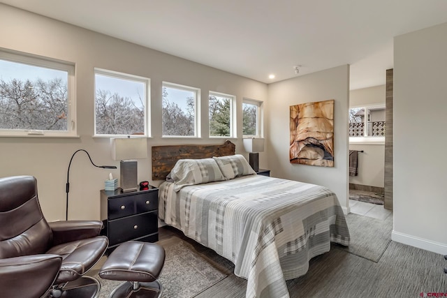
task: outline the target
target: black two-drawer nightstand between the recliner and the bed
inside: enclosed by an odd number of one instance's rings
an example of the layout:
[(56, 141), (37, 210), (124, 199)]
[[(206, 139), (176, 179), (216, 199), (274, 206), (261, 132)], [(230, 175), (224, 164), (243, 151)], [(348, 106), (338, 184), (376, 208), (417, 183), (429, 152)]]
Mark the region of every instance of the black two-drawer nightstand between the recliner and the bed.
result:
[(159, 188), (122, 193), (101, 190), (101, 220), (109, 248), (122, 242), (159, 240)]

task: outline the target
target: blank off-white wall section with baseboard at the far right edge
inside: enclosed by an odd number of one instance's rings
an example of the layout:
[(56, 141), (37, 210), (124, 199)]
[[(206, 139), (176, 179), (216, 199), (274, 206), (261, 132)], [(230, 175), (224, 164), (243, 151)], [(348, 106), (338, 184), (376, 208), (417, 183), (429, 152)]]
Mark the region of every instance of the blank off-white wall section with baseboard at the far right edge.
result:
[(447, 23), (394, 40), (393, 240), (447, 254)]

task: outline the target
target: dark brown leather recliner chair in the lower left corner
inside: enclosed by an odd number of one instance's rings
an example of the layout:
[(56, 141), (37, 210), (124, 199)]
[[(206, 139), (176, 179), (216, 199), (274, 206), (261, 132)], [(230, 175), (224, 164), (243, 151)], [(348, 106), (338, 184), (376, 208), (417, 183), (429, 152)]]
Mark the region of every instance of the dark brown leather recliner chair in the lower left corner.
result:
[(101, 221), (47, 223), (32, 176), (0, 178), (0, 296), (94, 297), (84, 274), (105, 253)]

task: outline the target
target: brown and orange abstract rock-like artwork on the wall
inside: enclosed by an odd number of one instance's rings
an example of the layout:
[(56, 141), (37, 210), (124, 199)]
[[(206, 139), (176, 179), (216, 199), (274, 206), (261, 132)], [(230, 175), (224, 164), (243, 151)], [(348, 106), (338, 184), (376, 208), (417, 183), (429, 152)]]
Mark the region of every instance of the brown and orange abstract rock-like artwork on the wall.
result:
[(291, 163), (334, 166), (334, 101), (291, 105)]

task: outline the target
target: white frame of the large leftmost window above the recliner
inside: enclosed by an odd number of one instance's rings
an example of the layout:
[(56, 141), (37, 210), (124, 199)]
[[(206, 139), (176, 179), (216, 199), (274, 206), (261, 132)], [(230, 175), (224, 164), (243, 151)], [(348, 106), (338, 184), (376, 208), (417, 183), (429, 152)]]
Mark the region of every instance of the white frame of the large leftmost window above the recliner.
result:
[(43, 131), (40, 129), (3, 129), (0, 128), (0, 137), (79, 137), (77, 133), (76, 96), (75, 96), (75, 64), (42, 57), (35, 54), (6, 50), (0, 48), (0, 59), (17, 64), (26, 64), (39, 68), (60, 70), (67, 73), (67, 130)]

